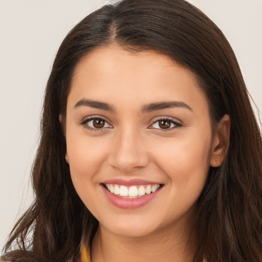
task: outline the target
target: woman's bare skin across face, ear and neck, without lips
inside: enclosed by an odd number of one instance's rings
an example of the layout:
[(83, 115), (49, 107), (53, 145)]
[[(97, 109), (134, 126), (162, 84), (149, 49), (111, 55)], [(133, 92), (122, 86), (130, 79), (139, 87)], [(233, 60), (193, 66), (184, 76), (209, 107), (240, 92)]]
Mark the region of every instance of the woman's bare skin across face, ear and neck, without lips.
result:
[[(108, 103), (114, 111), (79, 105), (83, 99)], [(188, 107), (141, 112), (146, 104), (166, 101)], [(89, 129), (90, 116), (104, 119), (104, 127)], [(167, 118), (170, 128), (161, 129), (159, 120)], [(167, 56), (116, 46), (87, 54), (73, 78), (65, 134), (75, 189), (99, 221), (92, 262), (192, 261), (196, 239), (189, 221), (210, 165), (219, 166), (225, 157), (229, 127), (226, 115), (212, 133), (208, 102), (195, 77)], [(147, 205), (121, 209), (101, 189), (114, 178), (163, 187)]]

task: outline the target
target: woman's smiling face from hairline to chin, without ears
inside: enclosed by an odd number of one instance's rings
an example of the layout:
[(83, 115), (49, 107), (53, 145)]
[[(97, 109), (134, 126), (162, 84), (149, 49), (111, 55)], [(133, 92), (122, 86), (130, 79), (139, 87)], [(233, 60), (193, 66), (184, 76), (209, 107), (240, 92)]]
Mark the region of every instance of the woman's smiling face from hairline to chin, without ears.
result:
[(65, 133), (73, 184), (101, 228), (142, 236), (188, 221), (214, 147), (188, 70), (154, 52), (96, 49), (76, 69)]

